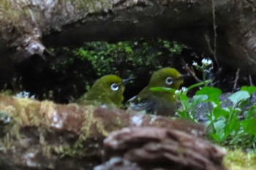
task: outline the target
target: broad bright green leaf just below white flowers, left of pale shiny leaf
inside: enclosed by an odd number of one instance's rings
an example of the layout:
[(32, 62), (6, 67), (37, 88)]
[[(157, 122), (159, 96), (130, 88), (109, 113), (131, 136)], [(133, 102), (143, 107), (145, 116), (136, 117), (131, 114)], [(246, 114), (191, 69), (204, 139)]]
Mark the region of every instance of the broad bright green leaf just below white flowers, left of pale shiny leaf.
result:
[(222, 90), (219, 88), (203, 87), (196, 92), (197, 95), (207, 95), (209, 101), (213, 101), (215, 104), (219, 105), (219, 95), (222, 93)]

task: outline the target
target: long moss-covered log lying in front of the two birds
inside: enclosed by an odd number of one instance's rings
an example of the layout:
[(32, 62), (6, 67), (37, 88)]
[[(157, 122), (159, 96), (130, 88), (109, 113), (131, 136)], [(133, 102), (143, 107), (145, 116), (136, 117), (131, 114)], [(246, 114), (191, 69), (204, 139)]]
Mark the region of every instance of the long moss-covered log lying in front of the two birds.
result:
[(204, 125), (187, 120), (4, 95), (0, 96), (0, 116), (0, 167), (10, 170), (91, 169), (101, 163), (103, 139), (124, 127), (206, 134)]

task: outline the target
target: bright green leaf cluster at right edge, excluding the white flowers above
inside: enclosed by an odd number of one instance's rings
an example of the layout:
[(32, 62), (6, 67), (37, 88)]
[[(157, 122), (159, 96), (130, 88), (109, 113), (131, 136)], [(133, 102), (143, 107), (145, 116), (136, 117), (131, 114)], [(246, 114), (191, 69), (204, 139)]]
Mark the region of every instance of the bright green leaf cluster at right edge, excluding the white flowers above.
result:
[[(254, 87), (253, 87), (254, 88)], [(203, 87), (197, 90), (192, 101), (189, 101), (185, 94), (181, 94), (181, 104), (183, 110), (180, 117), (186, 117), (197, 121), (195, 110), (199, 104), (208, 105), (208, 110), (203, 113), (206, 116), (206, 125), (209, 129), (209, 136), (218, 144), (225, 144), (228, 147), (255, 147), (256, 139), (256, 117), (255, 104), (248, 110), (242, 112), (249, 103), (252, 87), (243, 87), (236, 93), (231, 94), (228, 99), (232, 102), (224, 106), (226, 101), (220, 101), (219, 95), (222, 93), (219, 88)], [(255, 90), (256, 92), (256, 90)], [(242, 117), (243, 120), (240, 120)]]

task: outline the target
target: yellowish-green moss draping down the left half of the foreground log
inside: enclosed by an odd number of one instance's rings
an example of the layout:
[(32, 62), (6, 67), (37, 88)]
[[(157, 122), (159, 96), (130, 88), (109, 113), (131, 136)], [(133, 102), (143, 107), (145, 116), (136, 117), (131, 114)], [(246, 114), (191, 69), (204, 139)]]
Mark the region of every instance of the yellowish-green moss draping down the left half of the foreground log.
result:
[[(95, 147), (88, 145), (89, 140), (91, 140), (89, 139), (91, 128), (96, 128), (99, 134), (108, 135), (108, 131), (105, 130), (101, 121), (94, 117), (94, 107), (88, 106), (83, 112), (83, 125), (80, 129), (80, 135), (74, 137), (75, 141), (50, 142), (45, 137), (52, 131), (50, 130), (51, 122), (48, 118), (48, 113), (52, 113), (56, 109), (53, 102), (39, 102), (29, 98), (15, 98), (12, 102), (10, 106), (7, 106), (4, 102), (0, 104), (0, 115), (4, 114), (4, 117), (8, 115), (12, 118), (11, 123), (4, 126), (6, 133), (0, 139), (1, 150), (7, 151), (16, 145), (22, 146), (24, 134), (20, 134), (20, 129), (23, 127), (31, 127), (32, 131), (35, 131), (38, 135), (38, 142), (42, 147), (43, 155), (47, 158), (51, 158), (53, 153), (54, 155), (59, 155), (59, 157), (72, 156), (80, 158), (86, 156), (86, 150), (91, 150), (91, 148)], [(89, 154), (94, 153), (89, 152)]]

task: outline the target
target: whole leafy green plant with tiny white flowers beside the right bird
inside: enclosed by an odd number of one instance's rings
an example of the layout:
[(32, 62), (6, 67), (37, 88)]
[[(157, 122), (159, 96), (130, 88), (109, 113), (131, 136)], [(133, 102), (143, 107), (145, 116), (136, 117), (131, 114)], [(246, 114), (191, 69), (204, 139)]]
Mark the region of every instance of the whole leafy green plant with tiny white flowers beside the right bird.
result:
[[(203, 117), (209, 130), (209, 139), (217, 144), (255, 149), (256, 104), (250, 104), (250, 98), (256, 92), (256, 87), (244, 86), (236, 93), (229, 94), (225, 100), (220, 100), (222, 90), (209, 87), (212, 80), (206, 80), (206, 73), (212, 69), (211, 64), (209, 60), (203, 60), (202, 66), (193, 63), (196, 69), (203, 72), (203, 80), (189, 88), (176, 90), (176, 97), (181, 101), (178, 116), (195, 122)], [(187, 92), (196, 87), (200, 87), (200, 90), (189, 99)], [(168, 88), (152, 90), (174, 91)]]

